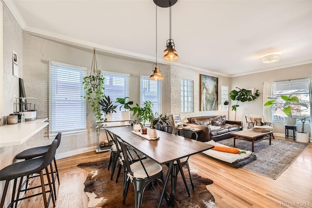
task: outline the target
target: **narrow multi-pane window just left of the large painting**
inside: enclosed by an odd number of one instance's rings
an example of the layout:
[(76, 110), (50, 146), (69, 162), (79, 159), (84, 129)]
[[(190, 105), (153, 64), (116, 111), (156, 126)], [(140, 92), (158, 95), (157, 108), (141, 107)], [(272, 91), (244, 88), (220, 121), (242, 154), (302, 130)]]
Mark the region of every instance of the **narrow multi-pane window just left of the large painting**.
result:
[(193, 81), (181, 80), (181, 112), (193, 112)]

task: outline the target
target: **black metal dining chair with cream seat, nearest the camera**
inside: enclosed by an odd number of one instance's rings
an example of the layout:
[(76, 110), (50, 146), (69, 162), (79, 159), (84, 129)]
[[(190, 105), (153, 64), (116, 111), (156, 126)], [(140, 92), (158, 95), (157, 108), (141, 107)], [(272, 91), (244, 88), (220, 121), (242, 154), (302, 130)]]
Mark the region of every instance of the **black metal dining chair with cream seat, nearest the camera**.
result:
[[(162, 184), (164, 183), (162, 166), (151, 159), (140, 159), (139, 154), (135, 149), (127, 145), (121, 139), (118, 140), (118, 142), (121, 146), (124, 164), (126, 166), (124, 174), (127, 176), (122, 203), (125, 204), (129, 185), (130, 182), (132, 182), (135, 189), (135, 207), (141, 208), (145, 187), (152, 184), (151, 182), (153, 181), (160, 181)], [(137, 162), (133, 162), (129, 157), (132, 155), (130, 151), (134, 152), (139, 158)], [(165, 197), (167, 198), (166, 194)]]

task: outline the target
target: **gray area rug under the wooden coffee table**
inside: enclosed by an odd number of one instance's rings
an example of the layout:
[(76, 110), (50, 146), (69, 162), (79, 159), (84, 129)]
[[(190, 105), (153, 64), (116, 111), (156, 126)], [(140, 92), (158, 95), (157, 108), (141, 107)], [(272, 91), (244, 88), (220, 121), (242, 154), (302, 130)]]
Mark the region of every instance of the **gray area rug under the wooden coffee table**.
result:
[[(218, 141), (218, 143), (232, 146), (233, 138)], [(236, 139), (235, 147), (252, 151), (252, 143)], [(309, 146), (309, 144), (292, 142), (282, 139), (262, 140), (254, 143), (254, 154), (257, 159), (244, 166), (249, 170), (260, 173), (272, 179), (278, 178)]]

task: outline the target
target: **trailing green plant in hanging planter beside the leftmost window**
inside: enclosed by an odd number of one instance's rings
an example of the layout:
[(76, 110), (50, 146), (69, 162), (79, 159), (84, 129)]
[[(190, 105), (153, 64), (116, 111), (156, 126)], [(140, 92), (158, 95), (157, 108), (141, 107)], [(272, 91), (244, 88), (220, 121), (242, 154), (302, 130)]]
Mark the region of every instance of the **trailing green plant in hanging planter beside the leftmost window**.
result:
[[(96, 79), (98, 79), (98, 84), (92, 84)], [(104, 122), (105, 120), (102, 116), (99, 102), (104, 95), (104, 77), (101, 75), (100, 72), (98, 73), (98, 76), (90, 75), (87, 77), (83, 77), (82, 84), (86, 92), (86, 95), (83, 96), (83, 98), (87, 100), (89, 107), (92, 107), (92, 111), (94, 113), (96, 121), (100, 122), (99, 124), (102, 125), (101, 122)]]

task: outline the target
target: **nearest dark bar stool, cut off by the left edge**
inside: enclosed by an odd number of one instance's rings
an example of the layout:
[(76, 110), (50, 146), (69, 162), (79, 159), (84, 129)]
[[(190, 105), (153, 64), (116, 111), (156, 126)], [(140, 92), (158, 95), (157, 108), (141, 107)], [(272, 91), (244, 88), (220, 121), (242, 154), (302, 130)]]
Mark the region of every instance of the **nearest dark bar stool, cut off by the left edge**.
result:
[[(16, 203), (17, 205), (17, 202), (20, 200), (28, 199), (30, 197), (38, 196), (40, 194), (43, 195), (44, 207), (47, 208), (48, 203), (47, 203), (46, 193), (49, 193), (49, 200), (52, 197), (53, 206), (55, 207), (52, 184), (51, 184), (50, 176), (48, 174), (48, 166), (52, 163), (52, 160), (55, 157), (57, 146), (58, 146), (58, 141), (54, 140), (52, 144), (50, 145), (45, 156), (38, 157), (35, 159), (31, 159), (31, 160), (25, 160), (25, 161), (18, 162), (18, 163), (13, 163), (12, 165), (6, 166), (0, 170), (0, 181), (5, 181), (0, 208), (3, 208), (4, 206), (4, 200), (5, 200), (6, 192), (9, 186), (9, 182), (13, 179), (14, 179), (14, 185), (13, 185), (12, 199), (8, 208), (9, 207), (12, 208), (14, 203)], [(47, 173), (46, 176), (48, 179), (48, 185), (49, 185), (50, 190), (45, 190), (43, 172), (42, 172), (43, 169), (45, 169)], [(17, 199), (15, 200), (15, 189), (16, 189), (17, 180), (20, 178), (20, 186), (21, 186), (24, 176), (27, 177), (28, 175), (35, 174), (35, 173), (40, 175), (42, 192), (33, 194), (31, 196), (26, 196), (20, 199), (19, 199), (19, 196), (17, 195)]]

